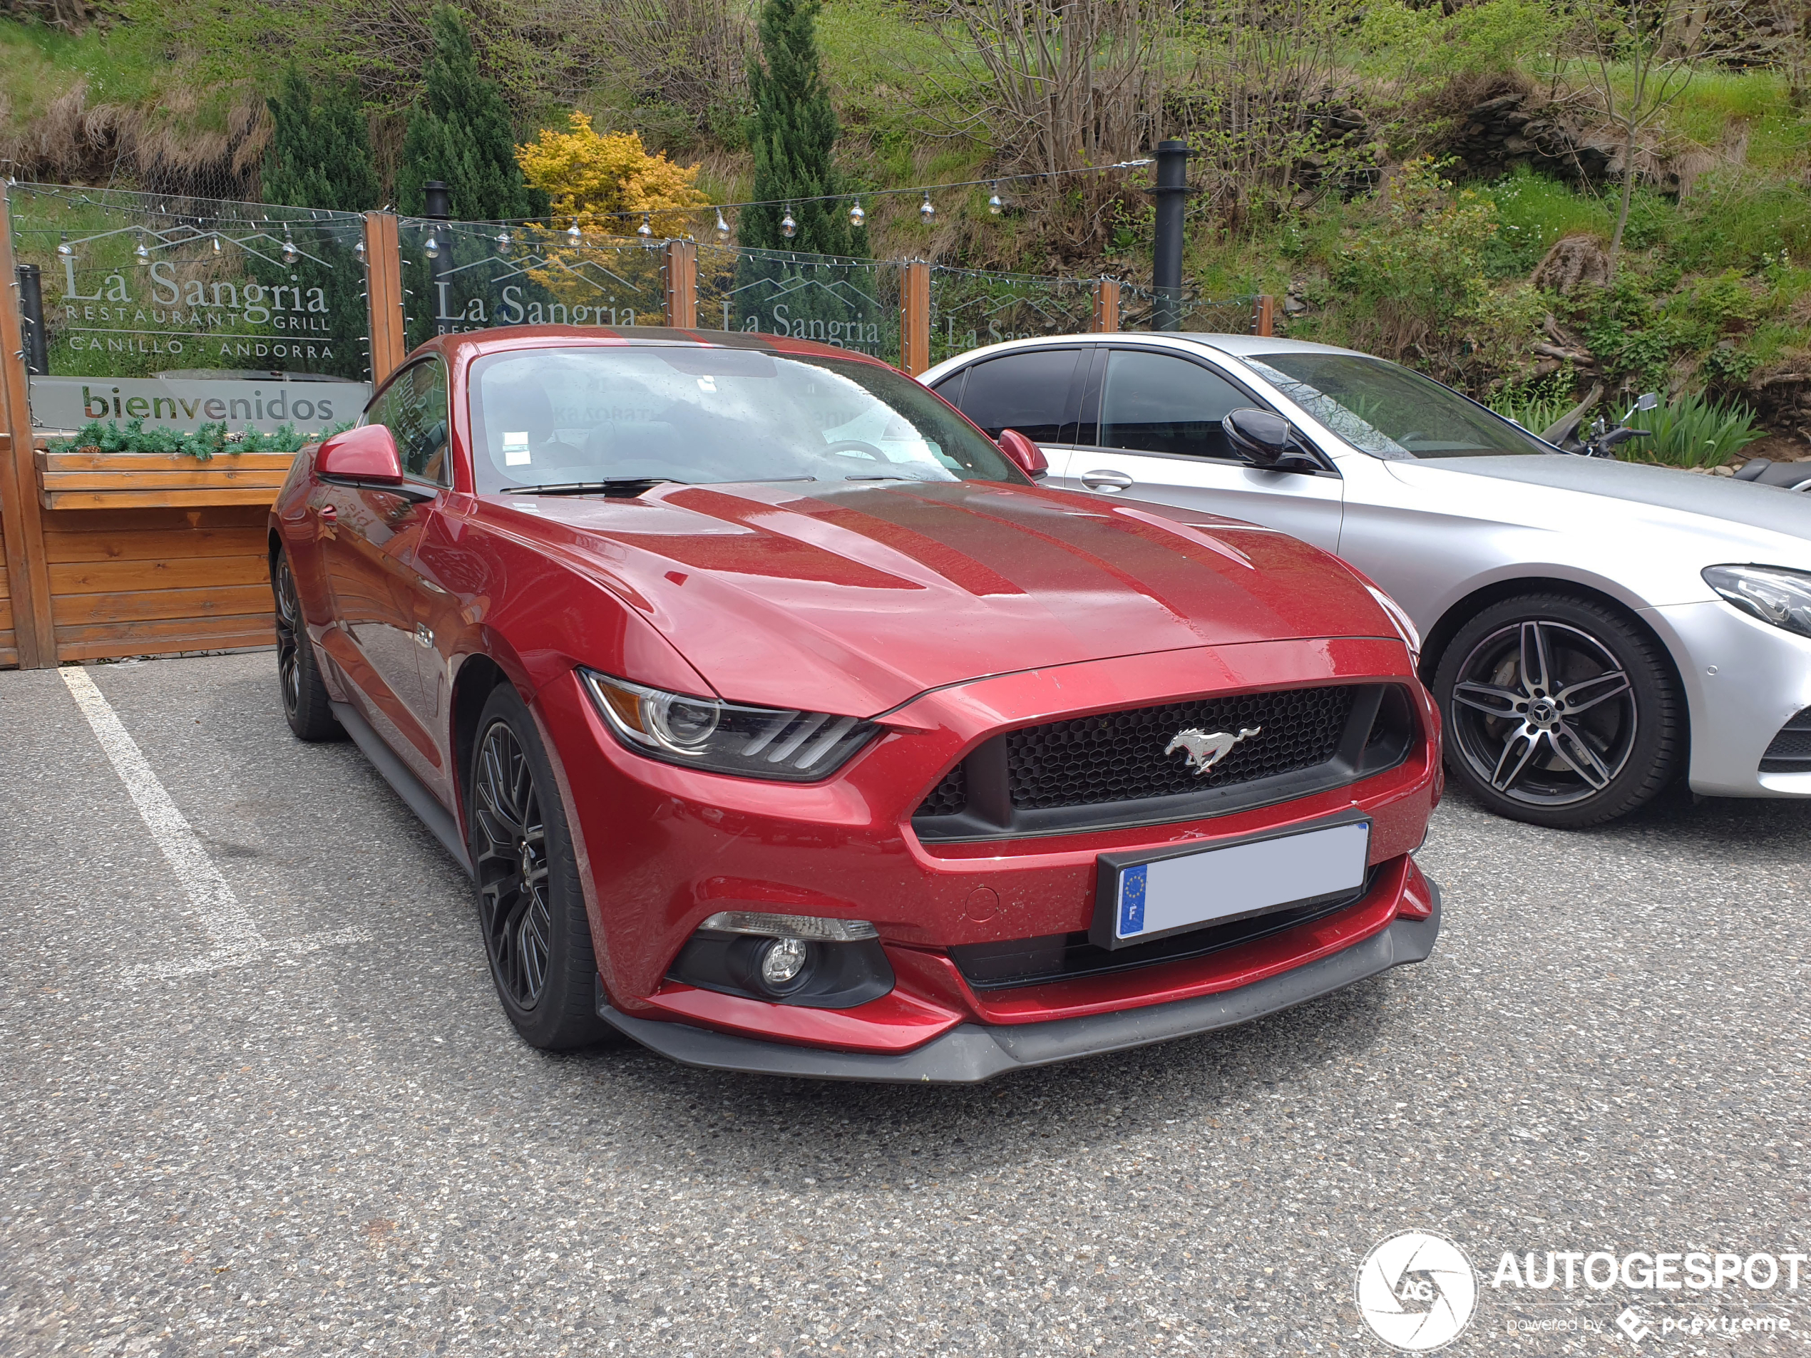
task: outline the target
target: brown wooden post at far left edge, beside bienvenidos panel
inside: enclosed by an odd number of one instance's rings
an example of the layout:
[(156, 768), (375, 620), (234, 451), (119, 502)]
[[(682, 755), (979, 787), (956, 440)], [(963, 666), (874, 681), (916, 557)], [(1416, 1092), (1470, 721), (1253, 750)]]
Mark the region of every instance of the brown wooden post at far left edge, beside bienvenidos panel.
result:
[(0, 192), (0, 420), (5, 449), (0, 458), (0, 538), (5, 540), (7, 592), (13, 601), (13, 641), (25, 670), (56, 666), (56, 626), (51, 619), (51, 569), (43, 556), (43, 509), (38, 505), (38, 465), (33, 458), (31, 387), (25, 373), (25, 337), (18, 324), (18, 270), (13, 259), (13, 212)]

